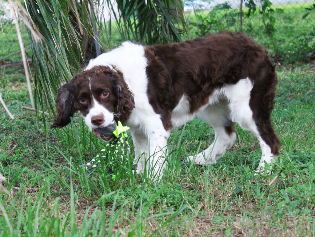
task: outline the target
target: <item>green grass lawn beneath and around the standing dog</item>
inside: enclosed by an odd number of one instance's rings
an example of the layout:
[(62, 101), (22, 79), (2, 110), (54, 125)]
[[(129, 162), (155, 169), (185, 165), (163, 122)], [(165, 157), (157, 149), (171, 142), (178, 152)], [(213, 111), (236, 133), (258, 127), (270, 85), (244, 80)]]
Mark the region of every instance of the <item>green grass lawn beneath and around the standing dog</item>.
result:
[(217, 164), (183, 162), (214, 138), (194, 120), (172, 132), (168, 168), (156, 184), (123, 169), (110, 180), (106, 161), (87, 177), (77, 164), (102, 144), (80, 116), (73, 129), (49, 130), (49, 119), (20, 109), (30, 106), (23, 69), (0, 70), (0, 91), (15, 116), (0, 107), (0, 172), (9, 190), (1, 192), (0, 236), (314, 236), (314, 63), (277, 68), (272, 118), (281, 151), (272, 175), (253, 175), (261, 151), (239, 127)]

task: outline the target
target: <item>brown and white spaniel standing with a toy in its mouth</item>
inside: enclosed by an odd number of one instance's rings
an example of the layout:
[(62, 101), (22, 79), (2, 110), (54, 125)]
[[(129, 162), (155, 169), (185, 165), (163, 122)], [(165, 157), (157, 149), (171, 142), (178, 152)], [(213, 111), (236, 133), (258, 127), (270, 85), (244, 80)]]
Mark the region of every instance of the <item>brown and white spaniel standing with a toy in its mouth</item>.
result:
[(213, 164), (235, 142), (236, 122), (257, 137), (263, 167), (280, 147), (270, 120), (277, 83), (268, 53), (241, 33), (164, 46), (124, 42), (59, 88), (52, 127), (66, 126), (76, 111), (94, 132), (120, 120), (130, 127), (137, 171), (158, 180), (173, 127), (196, 116), (209, 123), (215, 142), (187, 160)]

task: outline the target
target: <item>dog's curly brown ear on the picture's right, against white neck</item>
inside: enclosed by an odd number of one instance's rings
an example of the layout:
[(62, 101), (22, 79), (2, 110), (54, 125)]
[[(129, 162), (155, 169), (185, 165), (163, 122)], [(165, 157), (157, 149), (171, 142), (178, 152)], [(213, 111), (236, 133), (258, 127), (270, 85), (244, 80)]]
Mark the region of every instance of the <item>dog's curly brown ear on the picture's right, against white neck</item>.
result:
[(114, 78), (112, 82), (117, 97), (115, 113), (124, 124), (129, 119), (133, 108), (135, 108), (134, 94), (121, 77)]

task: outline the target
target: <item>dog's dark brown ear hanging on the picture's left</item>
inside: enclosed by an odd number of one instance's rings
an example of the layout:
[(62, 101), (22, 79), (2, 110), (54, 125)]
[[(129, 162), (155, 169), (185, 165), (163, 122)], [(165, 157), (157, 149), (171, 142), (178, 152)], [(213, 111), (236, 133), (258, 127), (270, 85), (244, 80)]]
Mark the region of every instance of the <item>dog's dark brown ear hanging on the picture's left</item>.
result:
[(65, 127), (70, 123), (70, 118), (77, 111), (74, 107), (75, 89), (76, 86), (73, 83), (66, 83), (58, 89), (55, 104), (57, 116), (50, 128)]

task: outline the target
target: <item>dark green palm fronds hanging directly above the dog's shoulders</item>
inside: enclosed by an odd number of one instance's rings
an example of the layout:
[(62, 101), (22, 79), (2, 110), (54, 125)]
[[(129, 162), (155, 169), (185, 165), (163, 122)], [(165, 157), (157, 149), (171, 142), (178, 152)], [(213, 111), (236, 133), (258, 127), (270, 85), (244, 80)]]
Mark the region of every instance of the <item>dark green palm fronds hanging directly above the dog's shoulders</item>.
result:
[(110, 23), (116, 24), (122, 40), (170, 43), (181, 41), (180, 34), (186, 29), (184, 5), (179, 0), (107, 0), (106, 3), (114, 18)]

